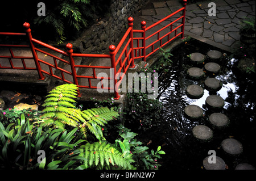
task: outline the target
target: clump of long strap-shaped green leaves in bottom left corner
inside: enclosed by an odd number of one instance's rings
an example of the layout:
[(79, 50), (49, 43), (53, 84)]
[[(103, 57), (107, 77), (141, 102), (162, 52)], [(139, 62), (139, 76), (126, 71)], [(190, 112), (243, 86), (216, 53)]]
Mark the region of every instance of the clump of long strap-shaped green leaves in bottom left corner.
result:
[[(62, 129), (35, 127), (20, 116), (6, 128), (0, 122), (0, 167), (5, 169), (76, 169), (84, 159), (73, 134)], [(40, 158), (40, 153), (45, 153)]]

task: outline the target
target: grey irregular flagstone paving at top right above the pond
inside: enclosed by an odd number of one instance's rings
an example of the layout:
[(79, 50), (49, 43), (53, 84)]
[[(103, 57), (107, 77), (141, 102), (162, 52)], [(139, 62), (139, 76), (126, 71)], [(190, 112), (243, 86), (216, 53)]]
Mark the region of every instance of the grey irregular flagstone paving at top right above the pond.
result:
[[(155, 2), (154, 2), (155, 1)], [(216, 4), (216, 15), (208, 7), (210, 2)], [(182, 1), (153, 0), (152, 6), (141, 11), (141, 18), (155, 22), (159, 15), (168, 15), (170, 12), (183, 7)], [(147, 8), (146, 7), (146, 8)], [(251, 0), (210, 0), (196, 3), (187, 3), (185, 34), (201, 39), (213, 41), (226, 49), (237, 48), (240, 45), (240, 22), (246, 17), (255, 17), (255, 1)]]

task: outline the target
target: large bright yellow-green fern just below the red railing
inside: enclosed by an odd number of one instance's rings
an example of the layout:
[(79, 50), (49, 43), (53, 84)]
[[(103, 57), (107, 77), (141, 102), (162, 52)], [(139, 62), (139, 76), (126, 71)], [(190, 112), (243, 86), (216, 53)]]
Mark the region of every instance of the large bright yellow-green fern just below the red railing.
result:
[(98, 140), (105, 140), (101, 127), (118, 117), (118, 112), (108, 107), (81, 111), (74, 106), (77, 89), (74, 84), (64, 84), (50, 91), (43, 104), (46, 108), (42, 111), (42, 124), (60, 129), (65, 129), (66, 125), (77, 127), (85, 138), (89, 130)]

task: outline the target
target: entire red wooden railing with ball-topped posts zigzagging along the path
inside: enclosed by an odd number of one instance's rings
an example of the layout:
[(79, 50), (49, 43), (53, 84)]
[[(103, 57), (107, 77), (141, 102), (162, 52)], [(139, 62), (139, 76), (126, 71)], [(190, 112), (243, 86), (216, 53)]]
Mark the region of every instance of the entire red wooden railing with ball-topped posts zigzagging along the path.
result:
[[(65, 50), (60, 50), (58, 48), (52, 47), (51, 45), (48, 45), (46, 43), (43, 43), (42, 41), (36, 40), (32, 38), (31, 36), (31, 30), (30, 30), (30, 24), (24, 23), (23, 27), (26, 28), (26, 33), (14, 33), (14, 32), (0, 32), (0, 35), (6, 35), (6, 36), (16, 36), (16, 35), (27, 35), (28, 40), (30, 42), (30, 45), (10, 45), (10, 44), (0, 44), (0, 47), (8, 47), (11, 53), (11, 56), (0, 56), (0, 58), (8, 58), (10, 61), (11, 66), (1, 66), (0, 69), (21, 69), (21, 70), (37, 70), (39, 74), (39, 79), (43, 80), (44, 74), (51, 75), (52, 77), (61, 79), (64, 82), (68, 83), (75, 83), (78, 87), (80, 88), (90, 88), (90, 89), (108, 89), (108, 90), (113, 90), (114, 89), (114, 99), (119, 99), (120, 95), (118, 93), (118, 87), (121, 84), (122, 78), (125, 76), (126, 71), (128, 68), (134, 68), (134, 59), (137, 58), (142, 58), (143, 61), (146, 61), (146, 58), (150, 56), (152, 53), (156, 52), (159, 50), (159, 47), (163, 47), (173, 39), (175, 39), (177, 36), (181, 35), (181, 39), (184, 38), (184, 23), (185, 23), (185, 9), (187, 5), (187, 0), (183, 0), (183, 7), (181, 9), (173, 12), (172, 14), (166, 16), (165, 18), (159, 20), (158, 22), (152, 24), (151, 26), (146, 27), (146, 22), (142, 21), (141, 22), (141, 30), (134, 30), (133, 29), (133, 18), (128, 18), (128, 25), (129, 28), (125, 32), (125, 35), (123, 35), (122, 39), (118, 43), (117, 47), (114, 45), (109, 46), (109, 54), (85, 54), (85, 53), (73, 53), (73, 45), (68, 43), (66, 45)], [(167, 24), (166, 26), (160, 28), (160, 30), (155, 31), (151, 35), (148, 35), (146, 37), (146, 32), (150, 30), (151, 28), (158, 26), (160, 23), (164, 22), (165, 20), (171, 18), (172, 16), (176, 15), (179, 12), (183, 12), (183, 14), (177, 18), (176, 20), (172, 21), (171, 23)], [(178, 20), (182, 19), (182, 23), (175, 27), (172, 28), (172, 25), (177, 22)], [(165, 30), (167, 27), (171, 27), (170, 31), (167, 32), (165, 35), (160, 36), (160, 32)], [(177, 30), (181, 28), (181, 32), (177, 33)], [(170, 34), (174, 32), (175, 36), (170, 39)], [(134, 33), (141, 33), (141, 37), (134, 37)], [(150, 38), (153, 38), (154, 35), (157, 35), (157, 39), (152, 41), (146, 46), (146, 41)], [(167, 41), (163, 43), (163, 39), (167, 37)], [(128, 38), (128, 39), (127, 39)], [(137, 41), (137, 47), (134, 46), (134, 40)], [(140, 45), (139, 41), (142, 41), (142, 45)], [(154, 44), (160, 43), (158, 48), (154, 49)], [(46, 52), (45, 50), (42, 50), (40, 48), (36, 48), (34, 44), (39, 44), (42, 45), (43, 47), (46, 47), (48, 49), (51, 49), (57, 53), (62, 54), (64, 57), (68, 57), (68, 60), (64, 60), (63, 58), (60, 58), (58, 56), (55, 56), (51, 53)], [(15, 56), (13, 53), (13, 50), (11, 49), (12, 47), (30, 47), (31, 52), (33, 57), (22, 57), (22, 56)], [(123, 48), (122, 48), (123, 47)], [(146, 54), (146, 49), (152, 48), (151, 52)], [(122, 48), (122, 49), (121, 49)], [(128, 50), (127, 50), (128, 49)], [(52, 57), (54, 60), (54, 65), (50, 64), (49, 62), (40, 60), (38, 58), (38, 54), (36, 51), (47, 54), (48, 56)], [(142, 52), (141, 52), (142, 51)], [(120, 52), (118, 54), (118, 52)], [(134, 54), (135, 53), (135, 54)], [(118, 54), (118, 57), (117, 57)], [(124, 56), (124, 58), (123, 58)], [(106, 58), (106, 60), (110, 60), (111, 66), (100, 66), (100, 65), (76, 65), (74, 61), (74, 57), (88, 57), (88, 58)], [(22, 60), (23, 68), (22, 67), (14, 67), (13, 62), (11, 61), (11, 58), (20, 58)], [(24, 59), (34, 59), (36, 68), (27, 68)], [(57, 61), (59, 60), (63, 62), (64, 64), (67, 64), (70, 68), (71, 71), (65, 70), (63, 68), (60, 68), (57, 65)], [(46, 70), (42, 70), (41, 66), (39, 64), (47, 65), (49, 68), (49, 72)], [(57, 69), (61, 73), (61, 77), (58, 77), (57, 75), (53, 74), (52, 68)], [(93, 75), (77, 75), (76, 68), (90, 68), (93, 71)], [(98, 77), (96, 75), (96, 69), (113, 69), (114, 77)], [(64, 77), (64, 73), (67, 73), (69, 75), (72, 75), (73, 77), (73, 82), (68, 81)], [(119, 76), (121, 75), (121, 76)], [(89, 86), (86, 85), (80, 85), (79, 81), (77, 78), (86, 78), (88, 79)], [(91, 79), (100, 79), (101, 86), (92, 86)], [(104, 87), (102, 84), (103, 79), (108, 79), (111, 81), (114, 81), (114, 88), (113, 87)], [(119, 80), (118, 80), (119, 79)], [(80, 92), (79, 92), (79, 96)]]

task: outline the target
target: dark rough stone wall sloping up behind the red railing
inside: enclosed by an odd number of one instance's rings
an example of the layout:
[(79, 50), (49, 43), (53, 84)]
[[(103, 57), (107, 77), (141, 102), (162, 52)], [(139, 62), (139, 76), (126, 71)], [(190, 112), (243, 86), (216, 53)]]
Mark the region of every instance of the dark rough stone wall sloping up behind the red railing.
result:
[(109, 11), (102, 19), (71, 42), (74, 53), (108, 53), (109, 45), (117, 46), (128, 28), (127, 18), (133, 16), (147, 0), (111, 0)]

